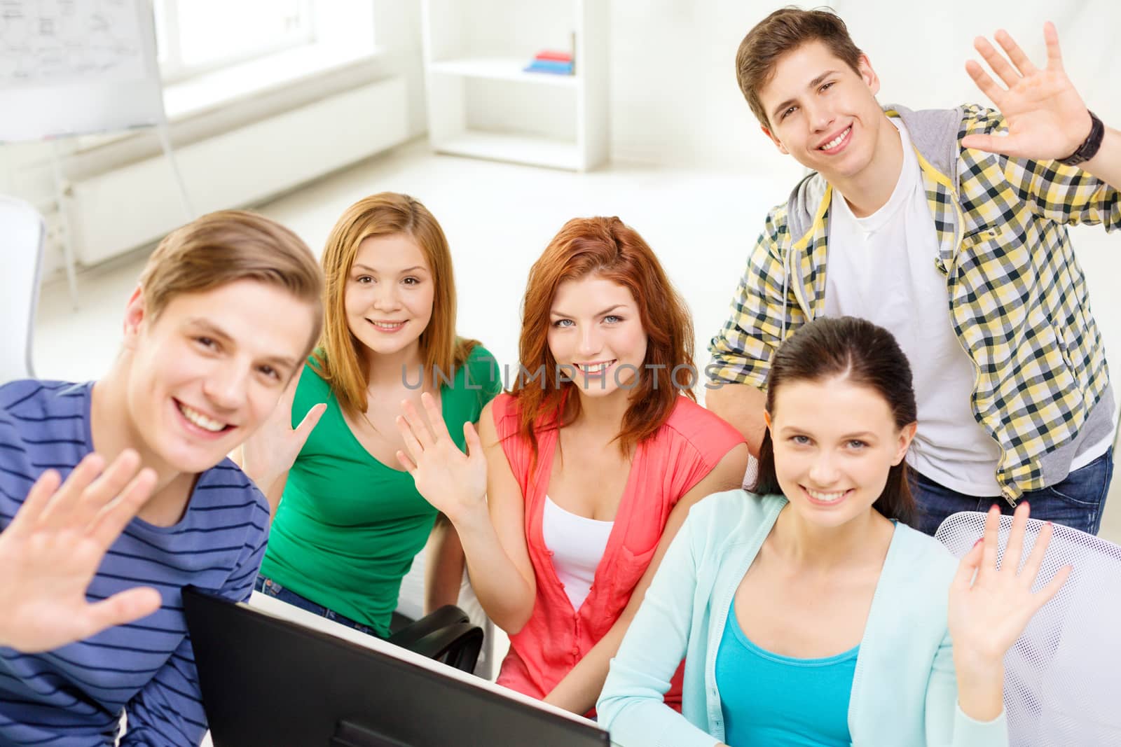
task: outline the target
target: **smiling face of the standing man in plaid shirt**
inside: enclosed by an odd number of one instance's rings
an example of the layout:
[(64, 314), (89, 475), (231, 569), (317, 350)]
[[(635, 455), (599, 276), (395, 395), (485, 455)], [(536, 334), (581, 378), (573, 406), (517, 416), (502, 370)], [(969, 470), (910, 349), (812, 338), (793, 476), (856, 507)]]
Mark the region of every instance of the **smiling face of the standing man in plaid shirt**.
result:
[(767, 134), (784, 153), (828, 181), (858, 177), (883, 148), (890, 128), (876, 101), (880, 81), (868, 57), (859, 74), (822, 41), (786, 53), (759, 92), (770, 127)]

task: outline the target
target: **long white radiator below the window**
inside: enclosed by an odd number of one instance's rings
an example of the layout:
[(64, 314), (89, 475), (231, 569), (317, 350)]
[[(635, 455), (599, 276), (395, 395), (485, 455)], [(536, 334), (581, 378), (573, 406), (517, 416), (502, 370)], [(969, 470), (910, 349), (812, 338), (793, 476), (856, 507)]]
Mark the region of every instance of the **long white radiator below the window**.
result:
[[(260, 203), (408, 137), (404, 77), (378, 81), (175, 150), (196, 214)], [(167, 159), (75, 181), (68, 200), (84, 265), (158, 241), (186, 222)]]

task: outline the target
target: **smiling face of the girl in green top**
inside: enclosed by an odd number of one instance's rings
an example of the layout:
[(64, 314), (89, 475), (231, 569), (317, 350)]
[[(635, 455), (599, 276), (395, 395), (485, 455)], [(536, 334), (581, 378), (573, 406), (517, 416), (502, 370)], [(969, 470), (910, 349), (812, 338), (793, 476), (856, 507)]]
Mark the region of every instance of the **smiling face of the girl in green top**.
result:
[(370, 353), (419, 353), (435, 283), (424, 251), (407, 234), (359, 244), (346, 278), (346, 325)]

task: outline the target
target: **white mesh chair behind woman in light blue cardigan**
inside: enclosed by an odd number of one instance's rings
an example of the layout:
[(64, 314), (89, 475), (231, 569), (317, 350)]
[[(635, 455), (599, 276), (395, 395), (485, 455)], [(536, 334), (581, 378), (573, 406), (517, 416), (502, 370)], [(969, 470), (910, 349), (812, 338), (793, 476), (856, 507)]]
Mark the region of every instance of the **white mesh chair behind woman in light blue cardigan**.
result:
[[(956, 513), (935, 538), (961, 558), (985, 514)], [(1001, 516), (1000, 553), (1012, 517)], [(1028, 520), (1027, 558), (1044, 522)], [(1012, 747), (1121, 745), (1121, 547), (1055, 525), (1036, 588), (1074, 571), (1004, 657), (1004, 709)]]

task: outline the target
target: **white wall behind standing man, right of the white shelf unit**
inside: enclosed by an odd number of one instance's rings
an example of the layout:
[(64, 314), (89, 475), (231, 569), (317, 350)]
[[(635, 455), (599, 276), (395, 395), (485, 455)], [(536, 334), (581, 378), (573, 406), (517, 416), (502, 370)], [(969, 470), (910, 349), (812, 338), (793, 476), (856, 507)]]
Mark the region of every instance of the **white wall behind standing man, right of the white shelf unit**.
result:
[[(799, 169), (759, 132), (735, 83), (735, 50), (748, 30), (786, 2), (610, 0), (612, 152), (617, 160), (696, 165), (773, 175)], [(807, 2), (804, 7), (821, 6)], [(882, 103), (911, 109), (984, 102), (965, 73), (973, 38), (1008, 29), (1043, 63), (1043, 24), (1053, 20), (1072, 80), (1106, 121), (1121, 122), (1115, 0), (836, 0), (853, 39), (880, 76)], [(988, 103), (988, 102), (984, 102)], [(791, 177), (793, 175), (793, 177)]]

